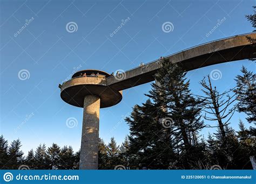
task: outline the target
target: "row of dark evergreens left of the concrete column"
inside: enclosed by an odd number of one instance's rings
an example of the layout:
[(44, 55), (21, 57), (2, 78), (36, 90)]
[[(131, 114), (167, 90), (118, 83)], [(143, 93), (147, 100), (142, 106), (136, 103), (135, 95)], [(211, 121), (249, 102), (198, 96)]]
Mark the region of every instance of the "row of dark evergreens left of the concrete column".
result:
[[(80, 151), (73, 153), (71, 146), (60, 148), (53, 143), (46, 149), (40, 144), (36, 151), (30, 150), (23, 158), (21, 141), (12, 141), (8, 146), (3, 135), (0, 137), (0, 169), (18, 169), (23, 165), (26, 169), (78, 169)], [(22, 167), (22, 168), (23, 168)]]

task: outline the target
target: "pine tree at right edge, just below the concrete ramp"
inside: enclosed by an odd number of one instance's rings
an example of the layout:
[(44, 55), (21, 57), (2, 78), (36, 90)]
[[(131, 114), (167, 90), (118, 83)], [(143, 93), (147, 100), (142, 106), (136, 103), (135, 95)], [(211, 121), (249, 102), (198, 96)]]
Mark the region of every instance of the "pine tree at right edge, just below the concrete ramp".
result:
[(256, 75), (249, 72), (244, 66), (241, 69), (242, 75), (237, 75), (235, 81), (237, 86), (234, 91), (237, 94), (238, 111), (245, 112), (249, 123), (256, 125)]

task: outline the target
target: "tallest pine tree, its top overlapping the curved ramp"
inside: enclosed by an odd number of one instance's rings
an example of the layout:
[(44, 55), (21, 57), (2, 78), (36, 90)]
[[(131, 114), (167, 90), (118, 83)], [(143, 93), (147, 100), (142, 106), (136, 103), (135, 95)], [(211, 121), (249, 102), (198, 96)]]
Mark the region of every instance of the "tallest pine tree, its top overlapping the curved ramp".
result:
[(171, 120), (175, 129), (173, 135), (177, 140), (176, 147), (185, 153), (181, 154), (184, 156), (184, 165), (188, 166), (188, 161), (194, 158), (192, 154), (198, 144), (198, 133), (204, 127), (203, 121), (200, 121), (203, 101), (191, 93), (190, 81), (186, 79), (182, 66), (166, 59), (161, 64), (156, 75), (159, 84), (152, 84), (153, 88), (147, 96), (153, 99), (158, 108), (166, 109), (159, 115)]

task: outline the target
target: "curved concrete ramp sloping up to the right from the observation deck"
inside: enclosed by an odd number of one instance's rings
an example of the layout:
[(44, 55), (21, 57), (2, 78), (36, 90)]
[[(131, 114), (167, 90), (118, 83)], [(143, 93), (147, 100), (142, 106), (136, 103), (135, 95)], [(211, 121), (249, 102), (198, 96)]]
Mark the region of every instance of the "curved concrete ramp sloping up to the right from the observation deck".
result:
[[(251, 59), (255, 47), (246, 37), (256, 37), (256, 33), (242, 34), (234, 37), (211, 41), (184, 51), (165, 56), (172, 62), (181, 63), (186, 70), (215, 65), (223, 62)], [(154, 74), (161, 67), (160, 60), (152, 61), (142, 67), (125, 72), (124, 79), (118, 77), (107, 78), (107, 86), (114, 90), (124, 90), (140, 84), (154, 81)]]

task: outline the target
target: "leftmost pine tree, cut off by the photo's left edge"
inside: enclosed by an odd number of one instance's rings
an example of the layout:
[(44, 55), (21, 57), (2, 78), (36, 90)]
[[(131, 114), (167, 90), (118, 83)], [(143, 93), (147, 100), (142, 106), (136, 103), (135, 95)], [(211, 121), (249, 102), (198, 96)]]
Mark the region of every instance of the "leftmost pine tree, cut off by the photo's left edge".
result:
[(4, 136), (0, 136), (0, 169), (8, 169), (6, 163), (8, 162), (8, 141)]

